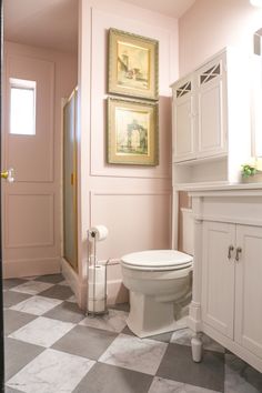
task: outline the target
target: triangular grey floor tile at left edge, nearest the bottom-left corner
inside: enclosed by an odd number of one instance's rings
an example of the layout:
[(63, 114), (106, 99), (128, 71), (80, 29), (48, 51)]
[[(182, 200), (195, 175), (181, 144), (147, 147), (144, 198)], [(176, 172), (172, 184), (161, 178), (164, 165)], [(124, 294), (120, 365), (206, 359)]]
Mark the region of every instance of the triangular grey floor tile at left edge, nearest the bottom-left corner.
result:
[(27, 363), (39, 355), (43, 347), (23, 343), (13, 339), (4, 340), (4, 369), (6, 381), (17, 374)]

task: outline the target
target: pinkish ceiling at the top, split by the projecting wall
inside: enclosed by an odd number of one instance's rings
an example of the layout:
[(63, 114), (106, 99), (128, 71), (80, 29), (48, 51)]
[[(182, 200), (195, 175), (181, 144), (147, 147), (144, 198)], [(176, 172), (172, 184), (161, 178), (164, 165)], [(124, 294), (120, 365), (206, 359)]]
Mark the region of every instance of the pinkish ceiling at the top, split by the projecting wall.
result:
[[(122, 1), (180, 18), (195, 0)], [(8, 41), (77, 52), (78, 0), (3, 0), (3, 26)]]

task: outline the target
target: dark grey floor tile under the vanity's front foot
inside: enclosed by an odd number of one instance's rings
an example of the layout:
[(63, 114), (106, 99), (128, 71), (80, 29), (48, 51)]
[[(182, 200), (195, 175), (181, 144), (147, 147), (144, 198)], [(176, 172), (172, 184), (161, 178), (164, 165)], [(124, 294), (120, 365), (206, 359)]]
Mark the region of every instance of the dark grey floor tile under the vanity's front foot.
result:
[(204, 351), (202, 362), (194, 363), (190, 346), (169, 344), (157, 375), (222, 392), (224, 389), (224, 354)]

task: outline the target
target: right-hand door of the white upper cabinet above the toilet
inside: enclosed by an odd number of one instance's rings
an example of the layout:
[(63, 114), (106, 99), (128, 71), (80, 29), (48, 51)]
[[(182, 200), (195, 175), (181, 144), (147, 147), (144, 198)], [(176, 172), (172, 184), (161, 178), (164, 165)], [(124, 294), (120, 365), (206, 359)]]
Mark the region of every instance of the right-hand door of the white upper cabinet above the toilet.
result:
[(198, 158), (226, 152), (226, 79), (222, 59), (198, 71)]

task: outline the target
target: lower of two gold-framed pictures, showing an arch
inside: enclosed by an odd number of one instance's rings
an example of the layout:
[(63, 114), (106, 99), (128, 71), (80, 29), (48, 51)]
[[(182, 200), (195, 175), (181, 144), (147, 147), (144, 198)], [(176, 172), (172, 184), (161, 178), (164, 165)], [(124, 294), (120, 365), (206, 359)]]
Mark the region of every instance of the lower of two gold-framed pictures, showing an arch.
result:
[(108, 162), (158, 165), (158, 103), (108, 99)]

